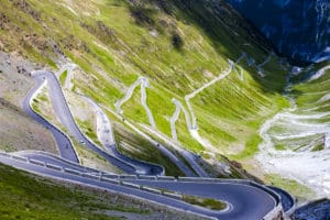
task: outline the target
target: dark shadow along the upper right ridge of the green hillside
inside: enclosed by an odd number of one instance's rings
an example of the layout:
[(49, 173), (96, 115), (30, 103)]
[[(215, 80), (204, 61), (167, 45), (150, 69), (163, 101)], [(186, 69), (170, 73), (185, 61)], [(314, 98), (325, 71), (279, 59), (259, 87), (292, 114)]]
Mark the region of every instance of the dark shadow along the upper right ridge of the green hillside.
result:
[[(208, 36), (219, 54), (232, 61), (237, 61), (242, 52), (246, 52), (249, 56), (255, 58), (256, 64), (261, 64), (270, 52), (274, 51), (273, 45), (258, 30), (223, 0), (141, 0), (136, 7), (143, 9), (144, 6), (148, 9), (145, 15), (152, 14), (150, 16), (153, 18), (155, 24), (157, 24), (156, 13), (151, 13), (151, 8), (155, 11), (162, 10), (188, 25), (197, 26)], [(134, 8), (133, 1), (131, 1), (131, 10), (132, 8)], [(150, 25), (148, 22), (147, 26)], [(160, 28), (160, 25), (156, 26)], [(260, 77), (256, 68), (249, 67), (246, 62), (242, 62), (241, 67), (253, 73), (251, 76), (262, 86), (264, 92), (282, 92), (283, 76), (276, 76), (282, 78), (274, 81), (274, 77), (272, 79)], [(276, 70), (278, 69), (274, 69)]]

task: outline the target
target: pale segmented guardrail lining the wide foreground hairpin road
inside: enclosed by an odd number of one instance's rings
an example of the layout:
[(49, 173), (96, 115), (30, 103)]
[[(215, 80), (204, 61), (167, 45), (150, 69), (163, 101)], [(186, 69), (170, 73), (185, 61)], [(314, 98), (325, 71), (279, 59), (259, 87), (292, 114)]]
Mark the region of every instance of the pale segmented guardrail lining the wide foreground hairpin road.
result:
[[(174, 176), (144, 176), (144, 175), (113, 175), (113, 174), (105, 174), (105, 176), (102, 175), (102, 172), (98, 170), (98, 175), (92, 175), (92, 174), (88, 174), (88, 173), (82, 173), (82, 172), (78, 172), (75, 169), (70, 169), (70, 168), (65, 168), (65, 167), (61, 167), (54, 164), (48, 164), (45, 162), (41, 162), (37, 160), (29, 160), (26, 157), (23, 156), (16, 156), (16, 155), (12, 155), (12, 154), (8, 154), (4, 152), (0, 152), (1, 156), (6, 156), (12, 160), (16, 160), (20, 162), (25, 162), (25, 163), (31, 163), (37, 166), (42, 166), (45, 168), (51, 168), (57, 172), (64, 172), (70, 175), (76, 175), (76, 176), (81, 176), (85, 178), (89, 178), (89, 179), (94, 179), (94, 180), (99, 180), (99, 182), (103, 182), (103, 183), (109, 183), (109, 184), (116, 184), (116, 185), (120, 185), (123, 187), (129, 187), (132, 189), (138, 189), (138, 190), (143, 190), (146, 193), (151, 193), (151, 194), (155, 194), (155, 195), (162, 195), (162, 196), (166, 196), (173, 199), (178, 199), (182, 200), (183, 196), (180, 194), (173, 194), (173, 193), (168, 193), (168, 191), (164, 191), (164, 190), (160, 190), (160, 189), (155, 189), (155, 188), (151, 188), (151, 187), (146, 187), (146, 186), (142, 186), (139, 184), (132, 184), (132, 183), (128, 183), (124, 182), (123, 179), (141, 179), (141, 180), (172, 180), (172, 182), (200, 182), (200, 183), (205, 183), (205, 182), (209, 182), (209, 183), (231, 183), (231, 184), (244, 184), (244, 185), (249, 185), (249, 186), (253, 186), (256, 188), (260, 188), (264, 191), (266, 191), (268, 195), (272, 196), (272, 198), (275, 199), (276, 201), (276, 206), (274, 207), (273, 210), (271, 210), (264, 218), (263, 220), (272, 220), (274, 218), (279, 217), (280, 215), (283, 215), (283, 207), (282, 207), (282, 202), (280, 202), (280, 196), (275, 193), (274, 190), (272, 190), (271, 188), (256, 184), (254, 182), (251, 180), (245, 180), (245, 179), (219, 179), (219, 178), (196, 178), (196, 177), (174, 177)], [(95, 169), (97, 170), (97, 169)]]

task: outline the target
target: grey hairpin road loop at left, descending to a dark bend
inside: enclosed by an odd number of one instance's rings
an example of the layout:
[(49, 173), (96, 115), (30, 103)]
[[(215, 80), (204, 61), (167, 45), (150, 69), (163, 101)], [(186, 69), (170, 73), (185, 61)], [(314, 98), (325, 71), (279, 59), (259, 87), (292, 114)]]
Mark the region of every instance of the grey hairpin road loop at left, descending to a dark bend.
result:
[[(113, 151), (113, 153), (116, 155), (110, 155), (107, 152), (102, 151), (97, 145), (95, 145), (89, 139), (87, 139), (81, 133), (81, 131), (77, 127), (77, 124), (72, 116), (72, 112), (67, 106), (66, 99), (64, 97), (64, 94), (62, 91), (61, 85), (59, 85), (56, 76), (46, 70), (33, 72), (32, 76), (34, 76), (37, 79), (38, 85), (34, 89), (31, 90), (31, 92), (25, 97), (24, 102), (23, 102), (23, 109), (24, 110), (26, 109), (26, 113), (30, 114), (32, 118), (38, 119), (40, 123), (44, 124), (45, 127), (50, 127), (50, 123), (45, 119), (43, 119), (41, 116), (36, 114), (33, 111), (33, 109), (31, 108), (31, 99), (33, 98), (34, 91), (40, 89), (40, 87), (44, 84), (43, 80), (46, 80), (47, 85), (48, 85), (51, 100), (52, 100), (53, 108), (54, 108), (56, 116), (58, 117), (61, 122), (66, 127), (68, 132), (72, 135), (74, 135), (77, 140), (79, 140), (79, 142), (81, 142), (86, 147), (96, 152), (100, 156), (108, 160), (111, 164), (118, 166), (119, 168), (123, 169), (127, 173), (150, 174), (150, 175), (164, 174), (164, 168), (158, 165), (139, 162), (135, 160), (130, 160), (130, 158), (119, 154), (117, 151)], [(54, 128), (54, 127), (52, 125), (50, 128)], [(62, 132), (59, 132), (59, 133), (62, 133)], [(75, 153), (72, 144), (70, 143), (63, 144), (63, 139), (64, 138), (61, 138), (59, 141), (57, 141), (59, 151), (67, 152), (65, 155), (65, 158), (77, 162), (77, 158), (74, 160), (74, 157), (77, 157), (77, 156), (76, 156), (76, 153)], [(113, 146), (113, 147), (116, 147), (116, 146)]]

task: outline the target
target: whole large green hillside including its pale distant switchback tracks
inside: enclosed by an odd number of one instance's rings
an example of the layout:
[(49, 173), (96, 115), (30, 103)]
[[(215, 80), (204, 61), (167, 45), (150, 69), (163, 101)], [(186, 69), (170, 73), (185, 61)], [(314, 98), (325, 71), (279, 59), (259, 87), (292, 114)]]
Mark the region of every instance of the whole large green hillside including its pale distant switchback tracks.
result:
[[(264, 178), (254, 160), (263, 142), (258, 130), (289, 107), (282, 94), (292, 66), (224, 1), (0, 3), (0, 51), (29, 63), (0, 65), (0, 88), (8, 94), (1, 98), (12, 109), (21, 111), (21, 100), (33, 86), (29, 73), (45, 68), (56, 73), (76, 123), (100, 148), (105, 144), (98, 139), (99, 110), (92, 103), (111, 121), (111, 141), (123, 154), (161, 164), (167, 175), (183, 173), (141, 132), (178, 157), (178, 147), (193, 151), (212, 177), (254, 179), (246, 168)], [(7, 66), (20, 70), (9, 72)], [(18, 79), (24, 79), (22, 91), (12, 98), (16, 85), (9, 81)], [(73, 138), (55, 114), (47, 89), (35, 97), (33, 108), (69, 135), (82, 165), (121, 172)], [(33, 135), (44, 132), (43, 143), (22, 144), (29, 138), (23, 133), (12, 138), (14, 147), (1, 143), (0, 148), (56, 153), (51, 134), (24, 113), (21, 117), (33, 124)], [(23, 119), (18, 130), (26, 128)], [(6, 135), (0, 129), (0, 136)]]

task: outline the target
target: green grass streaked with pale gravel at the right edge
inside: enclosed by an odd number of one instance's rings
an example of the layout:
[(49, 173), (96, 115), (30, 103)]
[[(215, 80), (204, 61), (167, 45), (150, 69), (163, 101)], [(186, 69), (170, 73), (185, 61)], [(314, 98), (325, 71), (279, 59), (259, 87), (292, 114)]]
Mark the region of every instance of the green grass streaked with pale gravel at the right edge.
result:
[[(329, 116), (322, 116), (322, 113), (327, 113), (330, 110), (329, 100), (327, 100), (327, 96), (330, 91), (329, 85), (329, 70), (324, 73), (323, 76), (316, 80), (306, 81), (306, 75), (310, 75), (311, 73), (318, 72), (322, 67), (329, 65), (329, 63), (318, 64), (315, 67), (306, 68), (304, 72), (295, 76), (293, 81), (296, 84), (293, 86), (293, 91), (289, 95), (295, 99), (297, 105), (297, 109), (293, 112), (297, 116), (305, 116), (306, 119), (299, 119), (300, 123), (310, 123), (318, 124), (320, 127), (324, 127), (323, 130), (327, 129), (327, 123), (330, 121)], [(304, 80), (301, 80), (304, 79)], [(322, 101), (323, 100), (323, 101)], [(318, 118), (309, 118), (308, 116), (320, 114)], [(286, 122), (287, 123), (287, 122)], [(297, 132), (308, 132), (315, 131), (315, 129), (308, 129), (306, 127), (300, 127), (299, 124), (295, 128), (292, 128), (290, 124), (286, 123), (277, 123), (274, 128), (271, 129), (272, 134), (297, 134)], [(293, 148), (300, 150), (301, 147), (310, 144), (311, 151), (320, 151), (323, 150), (323, 138), (322, 132), (319, 132), (314, 135), (306, 135), (304, 138), (293, 138), (288, 140), (276, 140), (274, 142), (278, 150)]]

